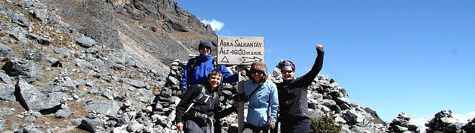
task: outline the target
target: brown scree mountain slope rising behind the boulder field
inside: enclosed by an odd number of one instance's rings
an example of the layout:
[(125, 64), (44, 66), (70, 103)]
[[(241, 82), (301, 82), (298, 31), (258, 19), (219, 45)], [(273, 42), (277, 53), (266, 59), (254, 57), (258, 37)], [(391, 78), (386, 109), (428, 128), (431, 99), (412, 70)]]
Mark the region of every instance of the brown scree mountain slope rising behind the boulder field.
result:
[[(211, 26), (173, 0), (44, 0), (52, 12), (105, 48), (136, 53), (163, 65), (197, 53), (199, 40), (216, 41)], [(216, 51), (216, 50), (214, 50)]]

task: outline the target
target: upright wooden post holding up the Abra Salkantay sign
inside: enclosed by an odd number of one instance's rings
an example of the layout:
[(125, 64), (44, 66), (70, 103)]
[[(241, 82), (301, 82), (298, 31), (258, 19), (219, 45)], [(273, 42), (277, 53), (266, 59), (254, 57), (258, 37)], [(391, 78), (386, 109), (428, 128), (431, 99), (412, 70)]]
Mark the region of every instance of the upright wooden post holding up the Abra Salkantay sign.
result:
[[(244, 79), (245, 77), (240, 74), (240, 72), (244, 69), (244, 67), (238, 67), (238, 94), (244, 93)], [(239, 109), (238, 109), (238, 133), (242, 133), (244, 130), (244, 102), (239, 102)]]

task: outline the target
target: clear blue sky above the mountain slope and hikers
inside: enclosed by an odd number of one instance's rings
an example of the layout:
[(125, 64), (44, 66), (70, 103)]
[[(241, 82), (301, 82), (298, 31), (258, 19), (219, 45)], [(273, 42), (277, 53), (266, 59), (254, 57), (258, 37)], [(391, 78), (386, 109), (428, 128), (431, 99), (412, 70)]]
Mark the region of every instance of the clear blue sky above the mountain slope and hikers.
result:
[(271, 70), (286, 59), (303, 75), (323, 44), (320, 74), (384, 121), (475, 116), (474, 0), (175, 1), (220, 36), (264, 36)]

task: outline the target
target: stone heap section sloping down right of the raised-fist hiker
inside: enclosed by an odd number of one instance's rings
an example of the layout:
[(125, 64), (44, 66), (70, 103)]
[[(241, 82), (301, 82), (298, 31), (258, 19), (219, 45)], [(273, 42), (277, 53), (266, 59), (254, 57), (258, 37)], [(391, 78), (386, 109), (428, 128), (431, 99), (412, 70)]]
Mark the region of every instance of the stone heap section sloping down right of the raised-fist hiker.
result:
[[(277, 73), (277, 72), (274, 72)], [(318, 75), (308, 87), (308, 104), (311, 116), (321, 118), (333, 114), (335, 123), (342, 126), (341, 133), (384, 133), (386, 126), (375, 124), (375, 118), (359, 104), (345, 98), (345, 90), (334, 79)]]

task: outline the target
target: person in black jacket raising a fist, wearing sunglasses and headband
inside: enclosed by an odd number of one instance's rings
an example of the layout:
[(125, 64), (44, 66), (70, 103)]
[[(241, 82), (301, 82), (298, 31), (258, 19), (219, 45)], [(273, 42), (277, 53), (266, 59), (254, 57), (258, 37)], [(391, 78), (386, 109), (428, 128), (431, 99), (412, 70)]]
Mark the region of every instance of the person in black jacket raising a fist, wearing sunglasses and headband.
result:
[(310, 113), (307, 103), (307, 88), (317, 77), (323, 66), (323, 45), (315, 45), (317, 58), (312, 69), (305, 75), (294, 78), (295, 65), (290, 61), (282, 60), (278, 68), (281, 69), (283, 82), (276, 83), (279, 93), (279, 114), (281, 133), (308, 133), (310, 132)]

